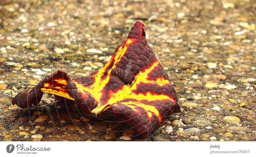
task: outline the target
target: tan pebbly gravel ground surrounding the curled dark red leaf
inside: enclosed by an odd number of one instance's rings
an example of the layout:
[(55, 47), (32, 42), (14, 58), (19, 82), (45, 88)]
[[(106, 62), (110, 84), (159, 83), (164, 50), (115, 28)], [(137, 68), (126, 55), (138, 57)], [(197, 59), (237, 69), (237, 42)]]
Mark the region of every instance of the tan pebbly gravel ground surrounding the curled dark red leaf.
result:
[[(1, 1), (0, 140), (256, 141), (255, 1), (156, 2)], [(30, 109), (11, 104), (58, 69), (75, 78), (101, 68), (138, 20), (181, 106), (148, 138), (48, 94)]]

